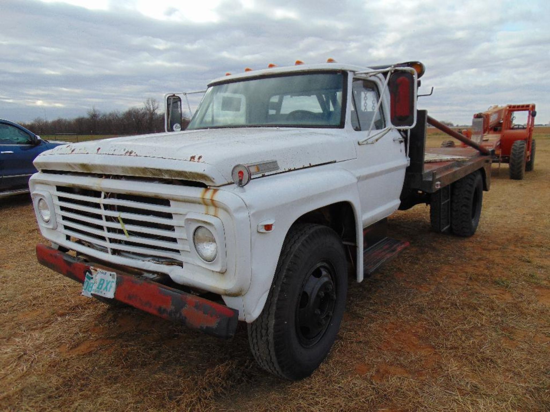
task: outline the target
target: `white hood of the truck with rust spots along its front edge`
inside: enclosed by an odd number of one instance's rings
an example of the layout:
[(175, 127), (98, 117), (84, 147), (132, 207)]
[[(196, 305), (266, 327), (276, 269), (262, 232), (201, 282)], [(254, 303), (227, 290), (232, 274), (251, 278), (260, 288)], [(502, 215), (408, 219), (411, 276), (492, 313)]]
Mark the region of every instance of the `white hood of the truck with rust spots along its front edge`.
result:
[(201, 181), (232, 182), (237, 164), (276, 160), (278, 170), (308, 168), (356, 157), (341, 129), (207, 129), (117, 137), (58, 146), (35, 159), (38, 170), (66, 170)]

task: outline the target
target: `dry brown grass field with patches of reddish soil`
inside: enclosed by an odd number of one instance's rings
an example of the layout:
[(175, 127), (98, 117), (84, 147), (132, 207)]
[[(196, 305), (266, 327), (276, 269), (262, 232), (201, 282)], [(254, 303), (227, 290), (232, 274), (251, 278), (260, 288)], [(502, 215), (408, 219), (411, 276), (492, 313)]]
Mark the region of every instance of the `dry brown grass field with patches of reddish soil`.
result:
[(350, 284), (331, 354), (299, 382), (256, 366), (243, 325), (220, 341), (80, 296), (36, 263), (27, 196), (2, 199), (0, 410), (550, 410), (550, 128), (536, 133), (525, 180), (493, 165), (475, 236), (431, 232), (423, 205), (390, 219), (411, 247)]

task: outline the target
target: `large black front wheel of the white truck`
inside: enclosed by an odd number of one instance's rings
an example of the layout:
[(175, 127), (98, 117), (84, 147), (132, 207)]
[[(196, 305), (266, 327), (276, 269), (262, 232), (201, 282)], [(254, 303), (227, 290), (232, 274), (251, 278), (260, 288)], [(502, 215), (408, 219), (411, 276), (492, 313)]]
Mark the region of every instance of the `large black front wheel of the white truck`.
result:
[(259, 365), (290, 380), (312, 374), (332, 348), (348, 291), (342, 241), (332, 229), (293, 226), (267, 302), (248, 325)]

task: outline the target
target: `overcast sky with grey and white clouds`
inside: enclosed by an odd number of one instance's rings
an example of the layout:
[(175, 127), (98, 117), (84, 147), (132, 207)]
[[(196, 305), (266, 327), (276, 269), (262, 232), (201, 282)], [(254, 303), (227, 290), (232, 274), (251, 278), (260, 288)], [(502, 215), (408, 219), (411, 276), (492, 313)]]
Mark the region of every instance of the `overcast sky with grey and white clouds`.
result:
[(296, 59), (420, 60), (419, 105), (470, 124), (492, 104), (550, 121), (548, 0), (0, 0), (0, 118), (141, 106)]

